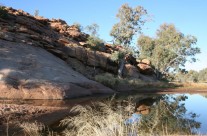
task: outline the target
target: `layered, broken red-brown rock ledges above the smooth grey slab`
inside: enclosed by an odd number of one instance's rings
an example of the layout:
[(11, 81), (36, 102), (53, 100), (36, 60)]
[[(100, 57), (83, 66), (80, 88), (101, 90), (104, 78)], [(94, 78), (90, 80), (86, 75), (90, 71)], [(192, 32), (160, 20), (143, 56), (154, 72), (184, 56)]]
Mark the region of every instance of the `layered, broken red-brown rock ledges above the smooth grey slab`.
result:
[[(33, 17), (22, 10), (6, 9), (8, 18), (1, 19), (0, 39), (44, 48), (67, 62), (72, 60), (71, 58), (76, 58), (85, 66), (90, 67), (90, 71), (95, 67), (117, 73), (117, 64), (111, 61), (111, 54), (86, 48), (89, 35), (80, 32), (74, 25), (69, 26), (61, 19), (49, 20), (43, 17)], [(69, 62), (71, 63), (73, 62)], [(73, 66), (77, 69), (75, 65)], [(88, 72), (83, 71), (82, 74)]]

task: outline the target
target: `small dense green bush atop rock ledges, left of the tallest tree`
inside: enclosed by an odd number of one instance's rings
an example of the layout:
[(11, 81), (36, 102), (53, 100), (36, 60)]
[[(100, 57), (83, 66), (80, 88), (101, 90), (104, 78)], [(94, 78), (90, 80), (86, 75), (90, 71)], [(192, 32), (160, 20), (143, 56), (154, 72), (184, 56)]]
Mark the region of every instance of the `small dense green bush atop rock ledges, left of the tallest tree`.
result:
[(89, 44), (89, 48), (92, 50), (104, 51), (105, 49), (104, 41), (96, 36), (89, 36), (87, 44)]

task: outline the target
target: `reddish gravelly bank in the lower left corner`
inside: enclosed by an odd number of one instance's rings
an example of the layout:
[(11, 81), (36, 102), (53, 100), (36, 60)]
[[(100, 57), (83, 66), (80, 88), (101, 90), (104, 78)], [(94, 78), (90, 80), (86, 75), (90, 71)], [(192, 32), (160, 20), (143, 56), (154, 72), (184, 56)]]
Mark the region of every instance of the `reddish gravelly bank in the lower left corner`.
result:
[[(0, 103), (0, 135), (21, 135), (22, 122), (43, 122), (49, 125), (51, 121), (64, 117), (67, 107), (33, 106), (29, 104)], [(65, 115), (66, 116), (66, 115)]]

